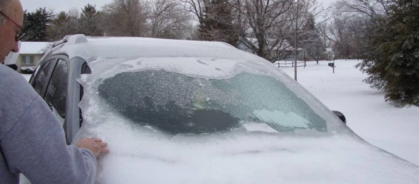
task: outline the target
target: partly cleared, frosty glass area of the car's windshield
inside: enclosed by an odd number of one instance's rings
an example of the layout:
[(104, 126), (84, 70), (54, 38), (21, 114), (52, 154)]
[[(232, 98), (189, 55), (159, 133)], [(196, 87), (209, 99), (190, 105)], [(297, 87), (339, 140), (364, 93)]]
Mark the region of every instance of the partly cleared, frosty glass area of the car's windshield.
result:
[(327, 131), (326, 121), (283, 83), (246, 72), (223, 80), (164, 70), (119, 73), (103, 80), (99, 96), (133, 122), (170, 134), (225, 132), (245, 123)]

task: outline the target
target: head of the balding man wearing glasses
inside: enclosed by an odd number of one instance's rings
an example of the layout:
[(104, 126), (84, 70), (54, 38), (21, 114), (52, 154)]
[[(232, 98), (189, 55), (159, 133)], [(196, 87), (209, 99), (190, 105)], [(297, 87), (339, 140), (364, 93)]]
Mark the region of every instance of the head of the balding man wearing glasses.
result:
[(23, 8), (19, 0), (0, 0), (0, 12), (0, 62), (3, 63), (10, 51), (19, 51), (16, 35), (22, 31)]

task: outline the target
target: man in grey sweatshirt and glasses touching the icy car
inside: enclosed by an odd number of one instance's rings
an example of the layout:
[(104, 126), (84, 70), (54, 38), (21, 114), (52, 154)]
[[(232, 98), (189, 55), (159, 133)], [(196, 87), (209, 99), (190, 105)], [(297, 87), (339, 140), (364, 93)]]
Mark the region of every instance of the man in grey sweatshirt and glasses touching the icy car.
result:
[[(18, 52), (23, 26), (19, 0), (0, 0), (0, 62)], [(0, 64), (0, 183), (93, 184), (96, 156), (109, 153), (99, 139), (67, 145), (56, 117), (26, 80)]]

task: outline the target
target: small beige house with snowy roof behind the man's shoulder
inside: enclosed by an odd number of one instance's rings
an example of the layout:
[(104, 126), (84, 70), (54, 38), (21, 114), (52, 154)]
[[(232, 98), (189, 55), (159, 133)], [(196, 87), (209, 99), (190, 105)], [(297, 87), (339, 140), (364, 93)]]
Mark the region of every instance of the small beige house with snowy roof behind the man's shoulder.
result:
[(35, 67), (44, 56), (45, 49), (49, 45), (51, 45), (49, 42), (22, 41), (19, 56), (15, 63), (18, 66), (17, 71), (21, 72), (21, 67)]

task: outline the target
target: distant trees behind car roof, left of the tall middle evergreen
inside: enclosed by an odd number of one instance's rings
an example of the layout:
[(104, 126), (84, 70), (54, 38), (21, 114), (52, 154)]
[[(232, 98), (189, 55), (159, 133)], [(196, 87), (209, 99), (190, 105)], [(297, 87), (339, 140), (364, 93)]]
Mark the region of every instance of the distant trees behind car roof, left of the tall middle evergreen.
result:
[(70, 34), (189, 39), (192, 27), (191, 15), (177, 0), (114, 0), (101, 10), (87, 4), (81, 12), (25, 12), (30, 34), (24, 41), (56, 41)]

